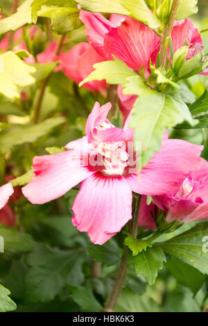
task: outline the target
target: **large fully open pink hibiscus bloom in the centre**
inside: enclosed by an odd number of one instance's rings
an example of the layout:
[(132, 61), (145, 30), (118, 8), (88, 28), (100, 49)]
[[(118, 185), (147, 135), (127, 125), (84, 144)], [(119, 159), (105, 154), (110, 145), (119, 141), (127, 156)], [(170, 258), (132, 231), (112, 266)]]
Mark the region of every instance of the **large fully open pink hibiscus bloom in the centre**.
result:
[(162, 149), (137, 173), (133, 132), (128, 119), (123, 129), (106, 119), (111, 104), (95, 103), (86, 136), (67, 144), (68, 151), (34, 157), (35, 176), (22, 188), (33, 204), (63, 196), (80, 185), (73, 203), (73, 225), (103, 244), (132, 218), (132, 191), (160, 195), (174, 189), (178, 175), (198, 169), (202, 146), (165, 139)]

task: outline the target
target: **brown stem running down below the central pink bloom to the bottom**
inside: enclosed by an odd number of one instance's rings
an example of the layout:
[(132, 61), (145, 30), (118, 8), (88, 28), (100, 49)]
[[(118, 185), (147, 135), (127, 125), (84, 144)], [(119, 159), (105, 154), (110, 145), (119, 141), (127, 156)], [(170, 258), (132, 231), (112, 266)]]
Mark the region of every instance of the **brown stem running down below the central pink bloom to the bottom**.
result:
[[(141, 195), (133, 193), (132, 220), (130, 222), (130, 234), (135, 239), (137, 238), (137, 222), (138, 222), (140, 202), (141, 202)], [(125, 276), (128, 272), (127, 257), (128, 257), (128, 247), (125, 247), (123, 251), (123, 256), (121, 258), (121, 263), (117, 271), (116, 280), (114, 282), (112, 292), (110, 293), (110, 296), (105, 304), (105, 311), (107, 312), (113, 312), (116, 307), (116, 302), (119, 298), (123, 283), (125, 281)]]

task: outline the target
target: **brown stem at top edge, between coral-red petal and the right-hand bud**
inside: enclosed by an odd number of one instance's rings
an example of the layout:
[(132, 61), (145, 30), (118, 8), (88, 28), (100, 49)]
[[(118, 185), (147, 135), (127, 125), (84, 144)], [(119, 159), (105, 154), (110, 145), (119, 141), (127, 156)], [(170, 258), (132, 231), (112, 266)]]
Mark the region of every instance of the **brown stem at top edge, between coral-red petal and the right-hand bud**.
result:
[(173, 4), (171, 7), (171, 12), (168, 17), (168, 22), (166, 24), (166, 27), (164, 28), (164, 31), (162, 32), (161, 38), (160, 38), (160, 49), (159, 49), (159, 65), (165, 66), (165, 60), (166, 60), (166, 38), (171, 35), (171, 31), (173, 28), (173, 24), (175, 22), (175, 17), (177, 14), (177, 9), (179, 6), (180, 0), (173, 0)]

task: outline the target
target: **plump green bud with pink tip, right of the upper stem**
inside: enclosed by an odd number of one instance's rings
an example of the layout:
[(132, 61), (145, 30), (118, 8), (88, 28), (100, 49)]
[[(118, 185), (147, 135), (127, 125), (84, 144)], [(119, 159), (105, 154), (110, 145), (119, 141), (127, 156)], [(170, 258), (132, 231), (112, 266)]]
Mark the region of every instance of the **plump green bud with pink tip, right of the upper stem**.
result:
[(202, 63), (202, 48), (199, 43), (182, 46), (173, 55), (173, 71), (177, 78), (187, 78)]

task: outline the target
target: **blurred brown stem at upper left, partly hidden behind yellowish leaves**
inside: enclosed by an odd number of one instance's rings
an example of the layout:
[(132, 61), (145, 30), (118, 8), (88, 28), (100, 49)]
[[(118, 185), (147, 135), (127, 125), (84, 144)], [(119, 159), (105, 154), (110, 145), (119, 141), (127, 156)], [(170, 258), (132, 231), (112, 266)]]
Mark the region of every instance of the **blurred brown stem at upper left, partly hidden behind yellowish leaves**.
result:
[[(55, 47), (54, 55), (58, 55), (60, 53), (60, 50), (62, 49), (64, 37), (65, 37), (64, 34), (60, 36), (60, 39), (58, 40), (58, 43)], [(51, 74), (52, 74), (52, 72), (51, 72)], [(33, 118), (34, 123), (37, 123), (39, 120), (42, 100), (44, 98), (44, 92), (45, 92), (46, 86), (49, 83), (49, 80), (51, 78), (51, 74), (49, 74), (49, 76), (47, 76), (44, 80), (42, 80), (42, 84), (40, 86), (40, 94), (37, 98), (37, 104), (35, 106), (35, 113), (34, 113), (34, 118)]]

